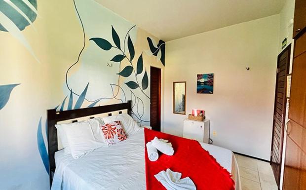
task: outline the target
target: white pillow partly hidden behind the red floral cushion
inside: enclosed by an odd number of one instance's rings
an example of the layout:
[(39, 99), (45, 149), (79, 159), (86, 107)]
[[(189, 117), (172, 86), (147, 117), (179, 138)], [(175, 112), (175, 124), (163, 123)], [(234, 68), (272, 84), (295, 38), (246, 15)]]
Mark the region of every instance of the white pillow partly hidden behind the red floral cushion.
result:
[(127, 136), (134, 134), (140, 130), (140, 127), (137, 125), (136, 121), (129, 114), (118, 114), (108, 117), (103, 117), (104, 123), (112, 123), (114, 121), (121, 121), (125, 133)]

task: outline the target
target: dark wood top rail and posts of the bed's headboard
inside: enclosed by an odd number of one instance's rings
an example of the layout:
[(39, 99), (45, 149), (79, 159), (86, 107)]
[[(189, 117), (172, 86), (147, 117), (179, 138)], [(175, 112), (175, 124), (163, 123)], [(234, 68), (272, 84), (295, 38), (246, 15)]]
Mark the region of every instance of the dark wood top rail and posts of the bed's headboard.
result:
[[(79, 117), (91, 116), (96, 114), (104, 114), (109, 112), (115, 112), (120, 110), (127, 110), (127, 114), (132, 114), (132, 101), (127, 103), (113, 104), (106, 106), (98, 106), (92, 108), (83, 108), (76, 110), (68, 110), (57, 112), (55, 109), (47, 111), (47, 130), (48, 130), (48, 153), (49, 153), (49, 179), (50, 188), (52, 184), (53, 175), (55, 172), (55, 152), (58, 151), (57, 129), (55, 124), (59, 121), (65, 121), (69, 119), (75, 119)], [(111, 115), (111, 114), (109, 114)]]

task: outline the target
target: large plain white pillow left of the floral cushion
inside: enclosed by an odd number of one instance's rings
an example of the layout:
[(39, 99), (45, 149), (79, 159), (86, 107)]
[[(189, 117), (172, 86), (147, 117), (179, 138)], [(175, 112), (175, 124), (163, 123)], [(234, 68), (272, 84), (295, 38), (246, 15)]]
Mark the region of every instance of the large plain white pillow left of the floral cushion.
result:
[(96, 141), (90, 122), (70, 123), (63, 127), (73, 158), (79, 158), (101, 147), (103, 143)]

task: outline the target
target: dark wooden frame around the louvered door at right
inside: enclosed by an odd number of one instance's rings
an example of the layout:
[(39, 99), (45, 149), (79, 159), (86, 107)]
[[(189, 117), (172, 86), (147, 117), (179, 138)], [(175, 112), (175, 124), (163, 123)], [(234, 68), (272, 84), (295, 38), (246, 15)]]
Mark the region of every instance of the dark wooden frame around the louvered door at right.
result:
[[(284, 80), (284, 88), (285, 92), (287, 89), (287, 76), (289, 75), (289, 70), (290, 70), (290, 56), (291, 56), (291, 43), (284, 49), (282, 50), (278, 56), (277, 56), (277, 69), (278, 69), (278, 64), (280, 62), (280, 57), (282, 54), (284, 54), (286, 51), (288, 51), (288, 57), (287, 57), (287, 72), (285, 74), (285, 80)], [(276, 71), (276, 83), (275, 83), (275, 96), (274, 96), (274, 109), (273, 109), (273, 123), (272, 123), (272, 140), (271, 140), (271, 152), (270, 152), (270, 165), (272, 165), (272, 154), (273, 154), (273, 143), (274, 143), (274, 132), (275, 132), (275, 112), (276, 112), (276, 104), (277, 104), (277, 78), (278, 78), (278, 71)], [(283, 159), (283, 146), (284, 146), (284, 129), (285, 129), (285, 119), (286, 119), (286, 106), (287, 105), (287, 96), (286, 93), (283, 94), (283, 113), (282, 113), (282, 126), (281, 126), (281, 137), (280, 137), (280, 150), (279, 150), (279, 174), (276, 175), (273, 171), (273, 175), (276, 181), (276, 184), (278, 186), (278, 189), (280, 187), (280, 177), (281, 177), (281, 165), (282, 165), (282, 159)]]

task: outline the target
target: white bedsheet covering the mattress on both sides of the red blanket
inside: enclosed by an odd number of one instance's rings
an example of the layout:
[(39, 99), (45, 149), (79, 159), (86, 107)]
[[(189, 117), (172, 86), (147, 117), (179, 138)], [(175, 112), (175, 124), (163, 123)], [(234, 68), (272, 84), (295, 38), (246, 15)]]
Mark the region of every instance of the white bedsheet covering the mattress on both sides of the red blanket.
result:
[[(231, 172), (231, 151), (204, 143), (201, 146)], [(78, 159), (58, 151), (51, 190), (146, 190), (144, 154), (143, 129), (125, 141)]]

